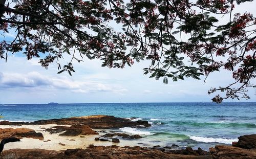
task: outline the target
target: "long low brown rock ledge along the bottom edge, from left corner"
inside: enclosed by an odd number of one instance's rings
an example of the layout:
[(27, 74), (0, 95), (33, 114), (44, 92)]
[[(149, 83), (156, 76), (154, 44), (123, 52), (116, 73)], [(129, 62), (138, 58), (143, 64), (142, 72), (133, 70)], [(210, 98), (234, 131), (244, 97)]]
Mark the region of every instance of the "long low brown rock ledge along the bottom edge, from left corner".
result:
[(157, 150), (148, 150), (138, 146), (131, 148), (123, 148), (118, 146), (94, 146), (92, 149), (68, 149), (66, 151), (53, 151), (41, 149), (11, 149), (3, 151), (0, 158), (99, 158), (99, 159), (141, 159), (141, 158), (183, 158), (183, 159), (212, 159), (211, 155), (195, 156), (195, 155), (182, 155), (182, 154), (169, 154)]

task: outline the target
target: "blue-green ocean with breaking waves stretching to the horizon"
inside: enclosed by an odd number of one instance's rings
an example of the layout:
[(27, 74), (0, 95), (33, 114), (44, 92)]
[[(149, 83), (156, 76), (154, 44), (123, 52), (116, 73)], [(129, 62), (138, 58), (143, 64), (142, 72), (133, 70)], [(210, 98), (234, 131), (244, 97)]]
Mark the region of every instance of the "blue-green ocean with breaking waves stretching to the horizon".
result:
[(118, 132), (140, 134), (138, 146), (201, 147), (230, 145), (240, 135), (256, 133), (256, 103), (87, 103), (2, 104), (0, 121), (32, 122), (89, 115), (145, 120), (149, 128), (124, 127)]

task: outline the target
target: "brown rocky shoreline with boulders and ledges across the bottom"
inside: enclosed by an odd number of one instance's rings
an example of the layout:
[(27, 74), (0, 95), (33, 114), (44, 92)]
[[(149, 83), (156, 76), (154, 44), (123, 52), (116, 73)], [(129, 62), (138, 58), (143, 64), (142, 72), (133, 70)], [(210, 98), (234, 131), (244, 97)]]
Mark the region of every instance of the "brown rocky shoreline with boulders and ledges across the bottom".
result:
[[(49, 124), (51, 124), (49, 126)], [(133, 122), (129, 119), (116, 118), (113, 116), (87, 116), (73, 117), (63, 119), (40, 120), (35, 122), (8, 122), (2, 121), (0, 125), (6, 125), (6, 128), (0, 128), (0, 140), (15, 137), (18, 139), (33, 139), (36, 141), (50, 143), (51, 135), (54, 138), (72, 138), (66, 139), (68, 142), (79, 142), (78, 138), (90, 139), (92, 144), (73, 146), (71, 149), (69, 144), (58, 142), (61, 147), (67, 147), (63, 150), (54, 150), (39, 148), (22, 148), (15, 149), (16, 142), (12, 143), (14, 149), (6, 149), (0, 154), (0, 158), (256, 158), (256, 134), (244, 135), (239, 137), (238, 142), (234, 142), (232, 146), (216, 145), (204, 151), (201, 148), (193, 150), (191, 147), (185, 149), (177, 149), (178, 145), (161, 147), (140, 147), (140, 146), (118, 146), (119, 139), (137, 140), (141, 139), (140, 135), (129, 135), (126, 133), (118, 133), (104, 131), (111, 128), (121, 127), (149, 127), (147, 121)], [(22, 127), (17, 127), (21, 126)], [(33, 125), (39, 125), (41, 132), (27, 128)], [(8, 127), (10, 126), (10, 127)], [(13, 126), (13, 128), (11, 128)], [(27, 126), (27, 127), (26, 127)], [(14, 128), (15, 127), (15, 128)], [(94, 130), (93, 130), (94, 129)], [(95, 130), (101, 129), (101, 130)], [(45, 137), (44, 134), (50, 136)], [(76, 137), (76, 138), (75, 138)], [(89, 138), (90, 137), (90, 138)], [(48, 139), (49, 138), (49, 139)], [(55, 140), (51, 138), (52, 140)], [(91, 139), (92, 138), (92, 139)], [(39, 139), (39, 140), (38, 140)], [(60, 140), (59, 140), (60, 141)], [(56, 141), (55, 141), (56, 142)], [(109, 143), (110, 146), (102, 146), (103, 143)], [(78, 143), (79, 144), (79, 143)], [(95, 145), (96, 144), (96, 145)], [(102, 144), (102, 145), (97, 145)], [(176, 147), (176, 148), (175, 148)]]

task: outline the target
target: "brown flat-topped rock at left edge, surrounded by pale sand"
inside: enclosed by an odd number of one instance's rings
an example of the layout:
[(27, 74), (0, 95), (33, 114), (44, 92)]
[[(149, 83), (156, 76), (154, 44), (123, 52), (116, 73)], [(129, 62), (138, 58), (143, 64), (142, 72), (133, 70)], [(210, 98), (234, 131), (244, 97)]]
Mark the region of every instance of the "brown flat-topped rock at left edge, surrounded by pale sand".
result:
[(33, 129), (29, 128), (0, 128), (0, 139), (10, 138), (12, 136), (18, 136), (22, 138), (34, 138), (39, 140), (44, 140), (44, 136), (41, 132), (35, 132)]

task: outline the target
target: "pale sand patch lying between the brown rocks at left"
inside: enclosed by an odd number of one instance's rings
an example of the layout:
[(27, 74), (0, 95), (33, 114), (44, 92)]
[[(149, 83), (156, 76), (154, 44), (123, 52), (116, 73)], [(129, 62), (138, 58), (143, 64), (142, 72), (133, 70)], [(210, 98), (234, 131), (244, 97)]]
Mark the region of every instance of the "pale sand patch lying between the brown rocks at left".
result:
[[(7, 143), (4, 147), (4, 150), (20, 148), (20, 149), (31, 149), (31, 148), (39, 148), (39, 149), (48, 149), (48, 150), (66, 150), (66, 149), (75, 149), (82, 148), (86, 149), (90, 144), (94, 145), (102, 145), (102, 146), (110, 146), (110, 145), (118, 145), (118, 146), (135, 146), (139, 142), (138, 140), (120, 140), (120, 143), (112, 143), (112, 142), (103, 142), (103, 141), (94, 141), (95, 138), (100, 137), (105, 133), (99, 132), (98, 135), (77, 135), (76, 137), (63, 137), (59, 136), (59, 133), (50, 134), (49, 132), (44, 131), (45, 128), (51, 128), (56, 126), (55, 124), (49, 125), (23, 125), (23, 126), (10, 126), (10, 125), (1, 125), (1, 128), (20, 128), (26, 127), (35, 130), (36, 132), (41, 132), (44, 135), (44, 141), (32, 138), (23, 138), (21, 142)], [(67, 126), (67, 125), (65, 125)], [(42, 129), (44, 128), (44, 129)], [(97, 129), (94, 129), (99, 131)], [(102, 130), (102, 129), (100, 129)], [(62, 133), (62, 132), (61, 132)], [(83, 136), (84, 138), (80, 138)], [(75, 141), (71, 141), (71, 140)], [(51, 140), (51, 141), (47, 141)], [(47, 142), (46, 142), (47, 141)], [(60, 145), (59, 143), (65, 144), (65, 146)]]

